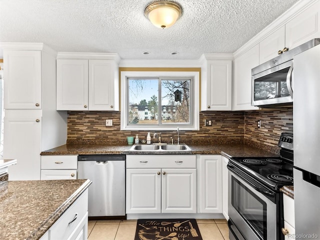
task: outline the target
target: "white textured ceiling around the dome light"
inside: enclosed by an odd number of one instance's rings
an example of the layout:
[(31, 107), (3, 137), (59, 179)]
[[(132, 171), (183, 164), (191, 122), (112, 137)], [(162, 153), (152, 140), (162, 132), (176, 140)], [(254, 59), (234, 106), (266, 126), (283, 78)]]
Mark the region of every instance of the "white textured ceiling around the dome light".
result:
[(182, 16), (167, 29), (145, 18), (150, 2), (0, 0), (0, 42), (117, 52), (122, 59), (198, 59), (202, 53), (234, 52), (297, 0), (177, 0)]

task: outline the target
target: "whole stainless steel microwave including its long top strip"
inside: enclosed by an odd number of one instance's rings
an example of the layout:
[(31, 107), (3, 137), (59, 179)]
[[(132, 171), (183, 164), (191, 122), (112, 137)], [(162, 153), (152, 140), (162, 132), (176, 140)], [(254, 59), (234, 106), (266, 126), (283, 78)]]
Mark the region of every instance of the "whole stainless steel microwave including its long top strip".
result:
[(320, 44), (315, 38), (251, 70), (251, 105), (268, 107), (293, 102), (293, 56)]

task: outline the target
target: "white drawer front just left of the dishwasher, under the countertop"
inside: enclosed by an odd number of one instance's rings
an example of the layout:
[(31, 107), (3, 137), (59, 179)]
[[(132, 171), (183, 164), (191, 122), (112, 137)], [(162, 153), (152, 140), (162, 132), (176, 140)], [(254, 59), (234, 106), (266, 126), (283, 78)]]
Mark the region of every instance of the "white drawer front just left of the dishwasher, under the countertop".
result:
[(41, 169), (76, 169), (77, 155), (41, 156)]

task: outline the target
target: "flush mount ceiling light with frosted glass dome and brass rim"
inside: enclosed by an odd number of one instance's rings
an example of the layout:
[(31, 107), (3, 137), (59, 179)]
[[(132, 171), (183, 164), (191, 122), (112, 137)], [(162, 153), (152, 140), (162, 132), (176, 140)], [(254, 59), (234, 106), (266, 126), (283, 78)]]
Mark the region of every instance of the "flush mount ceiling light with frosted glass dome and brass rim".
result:
[(181, 14), (181, 6), (171, 1), (152, 2), (144, 9), (146, 18), (159, 28), (168, 28), (172, 26)]

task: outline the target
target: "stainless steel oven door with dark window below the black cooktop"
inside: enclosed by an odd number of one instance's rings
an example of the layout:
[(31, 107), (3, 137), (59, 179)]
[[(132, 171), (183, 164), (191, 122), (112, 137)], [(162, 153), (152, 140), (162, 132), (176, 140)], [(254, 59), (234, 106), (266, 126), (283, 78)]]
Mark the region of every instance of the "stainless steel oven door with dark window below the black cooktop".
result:
[(237, 229), (230, 231), (232, 237), (250, 240), (277, 239), (276, 204), (269, 199), (274, 192), (258, 183), (253, 182), (251, 185), (230, 170), (228, 182), (228, 214)]

